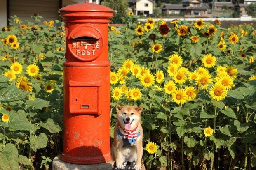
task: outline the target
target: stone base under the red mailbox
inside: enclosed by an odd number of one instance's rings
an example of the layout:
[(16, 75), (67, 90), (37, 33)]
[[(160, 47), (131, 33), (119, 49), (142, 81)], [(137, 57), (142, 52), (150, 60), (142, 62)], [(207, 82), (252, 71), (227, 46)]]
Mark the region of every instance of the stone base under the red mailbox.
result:
[(52, 170), (112, 170), (113, 164), (113, 161), (93, 165), (71, 164), (63, 162), (61, 156), (58, 155), (52, 161)]

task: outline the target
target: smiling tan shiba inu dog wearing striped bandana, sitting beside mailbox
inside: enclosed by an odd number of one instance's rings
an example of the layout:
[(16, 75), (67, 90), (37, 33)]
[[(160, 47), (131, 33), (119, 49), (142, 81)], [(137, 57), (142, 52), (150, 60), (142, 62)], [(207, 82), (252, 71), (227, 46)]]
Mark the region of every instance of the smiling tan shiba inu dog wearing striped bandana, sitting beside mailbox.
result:
[(111, 147), (112, 159), (117, 168), (123, 169), (123, 162), (136, 161), (135, 170), (145, 169), (141, 163), (143, 154), (143, 129), (141, 126), (142, 107), (116, 105), (117, 124)]

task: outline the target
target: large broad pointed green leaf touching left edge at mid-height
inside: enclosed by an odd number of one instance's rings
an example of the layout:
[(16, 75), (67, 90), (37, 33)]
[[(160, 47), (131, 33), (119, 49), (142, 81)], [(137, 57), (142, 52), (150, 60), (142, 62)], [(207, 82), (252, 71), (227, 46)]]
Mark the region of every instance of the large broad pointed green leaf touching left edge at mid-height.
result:
[(20, 90), (17, 87), (9, 86), (0, 90), (0, 102), (16, 101), (24, 99), (29, 92)]

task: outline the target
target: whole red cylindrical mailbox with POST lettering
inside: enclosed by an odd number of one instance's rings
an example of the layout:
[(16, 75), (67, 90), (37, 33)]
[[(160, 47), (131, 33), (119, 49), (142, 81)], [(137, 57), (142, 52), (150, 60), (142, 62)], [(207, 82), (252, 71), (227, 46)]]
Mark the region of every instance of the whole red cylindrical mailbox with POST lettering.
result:
[(66, 29), (61, 159), (104, 163), (111, 160), (108, 23), (113, 9), (85, 2), (59, 11)]

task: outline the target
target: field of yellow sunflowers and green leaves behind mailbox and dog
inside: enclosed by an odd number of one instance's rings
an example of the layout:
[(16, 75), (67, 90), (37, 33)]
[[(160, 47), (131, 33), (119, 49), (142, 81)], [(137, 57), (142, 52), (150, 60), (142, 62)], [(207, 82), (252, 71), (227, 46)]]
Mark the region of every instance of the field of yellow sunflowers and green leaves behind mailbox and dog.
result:
[[(256, 167), (253, 24), (174, 20), (109, 26), (111, 139), (115, 105), (143, 106), (147, 170)], [(51, 169), (61, 153), (65, 31), (20, 21), (0, 34), (0, 169)]]

